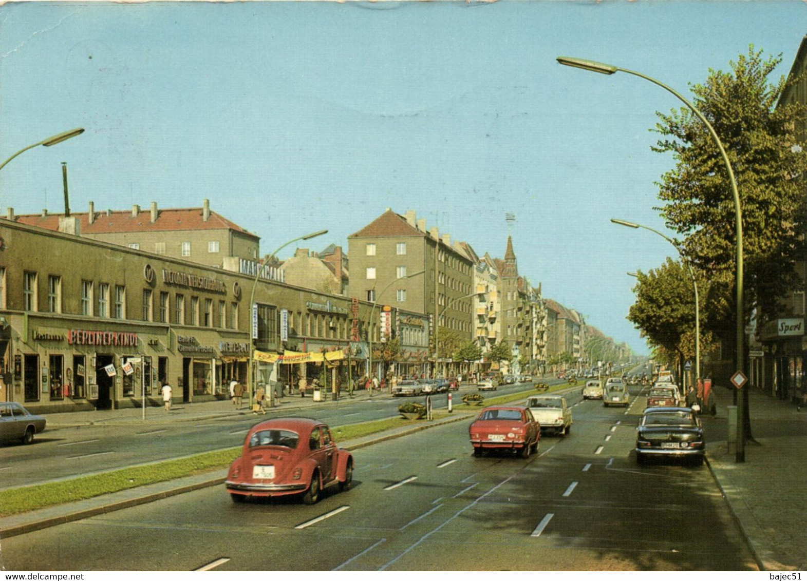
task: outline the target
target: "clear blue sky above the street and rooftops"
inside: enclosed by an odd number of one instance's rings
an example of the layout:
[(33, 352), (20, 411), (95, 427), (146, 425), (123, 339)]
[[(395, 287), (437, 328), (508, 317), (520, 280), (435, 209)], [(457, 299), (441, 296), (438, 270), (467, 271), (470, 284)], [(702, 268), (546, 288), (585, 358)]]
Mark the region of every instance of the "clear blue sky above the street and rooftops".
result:
[[(807, 34), (787, 2), (23, 2), (0, 6), (0, 212), (132, 204), (213, 210), (269, 252), (316, 248), (385, 208), (503, 256), (545, 297), (646, 353), (625, 319), (634, 279), (671, 247), (650, 151), (675, 98), (749, 44), (782, 54)], [(512, 226), (504, 214), (516, 214)], [(293, 249), (287, 249), (291, 254)]]

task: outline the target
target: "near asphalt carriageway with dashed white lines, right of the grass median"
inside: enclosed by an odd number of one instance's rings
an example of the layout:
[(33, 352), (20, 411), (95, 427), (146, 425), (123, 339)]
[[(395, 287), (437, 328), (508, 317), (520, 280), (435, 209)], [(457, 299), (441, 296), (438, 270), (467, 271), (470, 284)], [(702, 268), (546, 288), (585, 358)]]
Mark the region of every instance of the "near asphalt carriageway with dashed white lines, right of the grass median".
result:
[[(633, 388), (638, 393), (639, 388)], [(576, 390), (575, 390), (576, 392)], [(579, 393), (579, 392), (577, 392)], [(15, 570), (743, 571), (754, 561), (706, 467), (638, 467), (629, 409), (570, 396), (538, 454), (475, 458), (459, 421), (356, 450), (319, 504), (224, 487), (3, 541)]]

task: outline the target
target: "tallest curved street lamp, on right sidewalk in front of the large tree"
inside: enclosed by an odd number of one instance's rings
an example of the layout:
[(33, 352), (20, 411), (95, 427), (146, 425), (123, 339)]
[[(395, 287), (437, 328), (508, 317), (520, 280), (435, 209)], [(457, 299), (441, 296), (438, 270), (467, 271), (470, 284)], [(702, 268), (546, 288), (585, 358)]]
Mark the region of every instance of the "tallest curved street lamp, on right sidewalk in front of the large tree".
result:
[[(688, 102), (686, 98), (680, 93), (677, 93), (671, 87), (664, 85), (662, 82), (657, 81), (653, 77), (648, 77), (642, 73), (637, 73), (636, 71), (628, 70), (627, 68), (620, 68), (614, 66), (613, 64), (604, 64), (598, 63), (595, 60), (583, 60), (583, 59), (576, 59), (570, 56), (558, 56), (557, 59), (559, 64), (565, 64), (569, 67), (576, 67), (576, 68), (583, 68), (587, 71), (592, 71), (594, 73), (603, 73), (605, 75), (613, 75), (613, 73), (617, 73), (617, 71), (621, 71), (622, 73), (628, 73), (630, 75), (635, 75), (636, 77), (641, 77), (646, 81), (650, 81), (654, 85), (659, 85), (662, 89), (666, 89), (676, 98), (678, 98), (681, 102), (684, 102), (684, 105), (688, 106), (692, 113), (696, 115), (697, 118), (700, 119), (701, 122), (706, 126), (709, 130), (709, 135), (712, 136), (712, 139), (717, 145), (717, 149), (720, 150), (720, 155), (723, 159), (723, 163), (725, 164), (725, 170), (729, 174), (729, 181), (731, 182), (731, 194), (734, 197), (734, 230), (735, 230), (735, 252), (736, 252), (736, 261), (737, 261), (737, 271), (735, 274), (735, 282), (734, 286), (736, 287), (737, 292), (737, 313), (736, 313), (736, 321), (735, 321), (735, 332), (737, 333), (737, 351), (735, 353), (735, 357), (737, 358), (737, 369), (738, 371), (742, 371), (742, 367), (744, 367), (744, 360), (745, 360), (745, 353), (743, 352), (744, 349), (744, 338), (745, 338), (745, 308), (742, 301), (742, 210), (740, 208), (740, 194), (737, 190), (737, 181), (734, 180), (734, 170), (731, 168), (731, 162), (729, 161), (729, 156), (725, 153), (725, 148), (723, 147), (723, 143), (719, 137), (717, 137), (717, 132), (714, 131), (714, 127), (712, 124), (704, 117), (704, 114), (697, 110), (696, 106), (692, 105), (691, 102)], [(738, 397), (737, 397), (737, 415), (739, 421), (737, 422), (737, 454), (735, 456), (734, 461), (741, 463), (746, 461), (746, 434), (745, 434), (745, 408), (746, 408), (746, 398), (747, 398), (747, 391), (746, 386), (743, 385), (742, 388), (739, 389)]]

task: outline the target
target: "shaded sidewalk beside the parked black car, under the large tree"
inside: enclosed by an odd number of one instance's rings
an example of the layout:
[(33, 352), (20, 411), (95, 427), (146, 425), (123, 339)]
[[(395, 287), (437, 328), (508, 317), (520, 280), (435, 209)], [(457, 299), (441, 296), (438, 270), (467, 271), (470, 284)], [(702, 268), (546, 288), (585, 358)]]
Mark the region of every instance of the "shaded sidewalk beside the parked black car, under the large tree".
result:
[[(717, 417), (705, 416), (709, 469), (763, 571), (807, 569), (807, 408), (749, 392), (751, 434), (744, 463), (727, 446), (731, 392), (717, 388)], [(708, 532), (707, 532), (708, 533)]]

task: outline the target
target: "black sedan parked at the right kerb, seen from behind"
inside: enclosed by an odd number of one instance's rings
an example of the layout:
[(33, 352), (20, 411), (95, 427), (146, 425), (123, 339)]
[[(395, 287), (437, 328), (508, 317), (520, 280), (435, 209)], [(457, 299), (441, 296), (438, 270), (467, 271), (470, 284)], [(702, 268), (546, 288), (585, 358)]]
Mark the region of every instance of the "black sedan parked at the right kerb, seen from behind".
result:
[(636, 435), (636, 462), (649, 458), (704, 461), (706, 442), (700, 419), (691, 408), (648, 408)]

